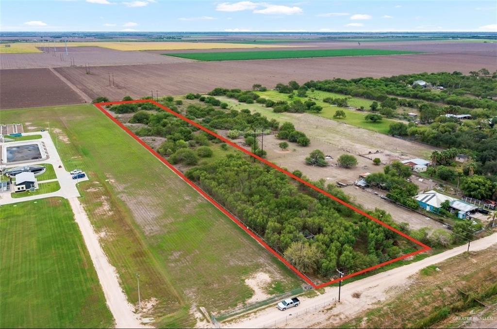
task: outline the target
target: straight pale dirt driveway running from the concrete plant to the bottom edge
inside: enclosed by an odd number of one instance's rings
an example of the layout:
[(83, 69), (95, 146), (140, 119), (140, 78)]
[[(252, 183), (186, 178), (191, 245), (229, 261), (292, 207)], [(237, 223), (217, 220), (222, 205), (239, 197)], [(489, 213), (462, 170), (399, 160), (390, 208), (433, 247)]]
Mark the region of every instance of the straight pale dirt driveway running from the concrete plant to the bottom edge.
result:
[(119, 285), (116, 269), (109, 263), (95, 234), (91, 223), (86, 216), (83, 205), (77, 197), (69, 198), (74, 212), (76, 223), (83, 234), (83, 240), (95, 266), (98, 280), (102, 286), (107, 306), (114, 316), (116, 328), (146, 328), (134, 313), (134, 307), (126, 299), (126, 295)]

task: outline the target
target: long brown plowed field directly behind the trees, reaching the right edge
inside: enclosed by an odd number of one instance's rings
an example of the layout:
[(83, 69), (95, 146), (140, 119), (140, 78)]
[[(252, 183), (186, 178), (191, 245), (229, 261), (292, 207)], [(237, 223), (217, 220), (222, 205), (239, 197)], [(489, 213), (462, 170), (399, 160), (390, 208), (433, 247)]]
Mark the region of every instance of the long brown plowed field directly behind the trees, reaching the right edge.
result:
[[(390, 76), (401, 73), (454, 71), (469, 72), (482, 67), (492, 69), (492, 52), (465, 54), (424, 54), (379, 57), (342, 57), (245, 62), (193, 62), (167, 65), (132, 65), (94, 67), (85, 74), (83, 67), (56, 68), (88, 96), (105, 95), (122, 99), (126, 95), (142, 97), (158, 90), (159, 95), (207, 92), (215, 87), (250, 88), (253, 83), (268, 87), (278, 82), (333, 77)], [(114, 87), (109, 87), (108, 73), (113, 72)]]

